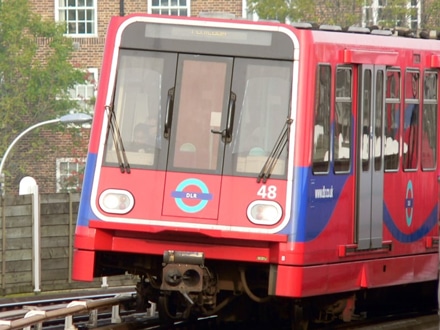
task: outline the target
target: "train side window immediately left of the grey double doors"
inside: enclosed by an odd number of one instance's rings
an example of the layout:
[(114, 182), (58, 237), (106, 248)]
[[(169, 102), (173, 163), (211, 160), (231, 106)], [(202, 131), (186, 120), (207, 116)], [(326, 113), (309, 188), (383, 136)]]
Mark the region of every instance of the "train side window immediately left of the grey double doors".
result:
[(348, 172), (351, 162), (352, 68), (336, 69), (334, 162), (335, 172)]

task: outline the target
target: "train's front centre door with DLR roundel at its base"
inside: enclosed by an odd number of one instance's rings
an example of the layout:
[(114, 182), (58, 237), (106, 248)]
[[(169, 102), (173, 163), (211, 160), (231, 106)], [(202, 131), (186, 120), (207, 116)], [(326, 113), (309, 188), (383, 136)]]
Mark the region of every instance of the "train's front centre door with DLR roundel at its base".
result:
[(227, 112), (235, 105), (232, 64), (232, 57), (178, 57), (175, 87), (166, 103), (164, 135), (170, 145), (163, 215), (207, 221), (218, 217), (225, 142), (230, 138)]

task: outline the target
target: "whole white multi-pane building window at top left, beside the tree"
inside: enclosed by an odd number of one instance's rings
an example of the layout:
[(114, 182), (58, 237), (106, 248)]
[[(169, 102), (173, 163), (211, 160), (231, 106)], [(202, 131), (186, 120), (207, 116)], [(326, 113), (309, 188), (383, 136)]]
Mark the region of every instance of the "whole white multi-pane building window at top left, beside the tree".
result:
[(96, 36), (96, 13), (96, 0), (55, 1), (55, 20), (65, 22), (66, 34), (69, 36)]

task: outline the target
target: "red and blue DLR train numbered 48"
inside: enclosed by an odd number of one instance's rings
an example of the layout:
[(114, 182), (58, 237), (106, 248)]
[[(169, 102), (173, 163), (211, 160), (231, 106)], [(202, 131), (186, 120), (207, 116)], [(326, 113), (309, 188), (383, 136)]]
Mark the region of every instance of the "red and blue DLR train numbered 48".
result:
[(133, 274), (136, 308), (155, 303), (164, 322), (307, 329), (404, 295), (436, 303), (430, 35), (112, 18), (72, 278)]

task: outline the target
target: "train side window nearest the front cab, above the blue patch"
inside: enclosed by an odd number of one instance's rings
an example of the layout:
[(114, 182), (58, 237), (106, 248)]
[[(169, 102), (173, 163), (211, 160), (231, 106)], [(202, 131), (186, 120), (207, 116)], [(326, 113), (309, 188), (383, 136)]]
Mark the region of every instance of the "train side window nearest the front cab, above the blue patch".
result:
[(328, 173), (330, 154), (331, 68), (318, 65), (313, 129), (313, 173)]

